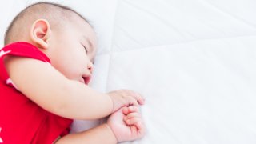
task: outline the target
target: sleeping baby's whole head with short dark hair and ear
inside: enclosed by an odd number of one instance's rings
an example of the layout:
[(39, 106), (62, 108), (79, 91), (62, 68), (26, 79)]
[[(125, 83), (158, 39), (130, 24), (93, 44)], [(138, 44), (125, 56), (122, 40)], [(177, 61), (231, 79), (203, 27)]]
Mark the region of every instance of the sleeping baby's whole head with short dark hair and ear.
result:
[(5, 45), (30, 42), (67, 78), (88, 83), (96, 51), (94, 30), (82, 15), (50, 2), (22, 10), (6, 30)]

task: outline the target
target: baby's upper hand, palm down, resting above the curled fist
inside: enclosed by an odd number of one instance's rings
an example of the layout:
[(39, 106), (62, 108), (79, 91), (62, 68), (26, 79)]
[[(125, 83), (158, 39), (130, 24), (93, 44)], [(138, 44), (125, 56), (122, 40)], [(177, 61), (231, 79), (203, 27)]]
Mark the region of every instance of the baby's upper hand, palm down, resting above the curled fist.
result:
[(112, 112), (120, 109), (122, 106), (138, 106), (144, 104), (144, 98), (132, 90), (115, 90), (108, 93), (113, 102)]

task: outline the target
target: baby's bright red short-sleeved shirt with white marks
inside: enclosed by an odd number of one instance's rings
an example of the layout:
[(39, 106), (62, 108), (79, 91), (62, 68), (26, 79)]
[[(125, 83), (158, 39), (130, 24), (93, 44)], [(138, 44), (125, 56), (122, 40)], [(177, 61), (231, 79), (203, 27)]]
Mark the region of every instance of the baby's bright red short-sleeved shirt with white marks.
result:
[(15, 42), (0, 50), (0, 142), (52, 143), (68, 134), (72, 120), (43, 110), (14, 88), (3, 63), (6, 55), (50, 63), (45, 54), (27, 42)]

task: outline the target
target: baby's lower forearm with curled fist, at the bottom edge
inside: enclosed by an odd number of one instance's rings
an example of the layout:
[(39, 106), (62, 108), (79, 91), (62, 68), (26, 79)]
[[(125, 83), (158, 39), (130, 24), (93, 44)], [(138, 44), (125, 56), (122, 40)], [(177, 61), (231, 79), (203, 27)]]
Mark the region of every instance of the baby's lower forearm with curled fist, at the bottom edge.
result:
[(125, 106), (111, 114), (107, 124), (102, 124), (78, 134), (68, 134), (58, 139), (56, 143), (114, 144), (142, 138), (145, 135), (145, 129), (138, 107)]

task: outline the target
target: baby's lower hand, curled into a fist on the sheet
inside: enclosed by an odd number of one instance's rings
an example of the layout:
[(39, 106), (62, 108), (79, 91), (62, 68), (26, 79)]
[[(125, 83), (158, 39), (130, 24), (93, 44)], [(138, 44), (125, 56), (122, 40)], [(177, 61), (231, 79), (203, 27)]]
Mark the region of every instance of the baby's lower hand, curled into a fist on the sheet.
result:
[(123, 107), (107, 120), (118, 142), (133, 141), (145, 135), (146, 127), (137, 106)]

